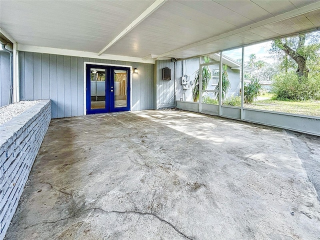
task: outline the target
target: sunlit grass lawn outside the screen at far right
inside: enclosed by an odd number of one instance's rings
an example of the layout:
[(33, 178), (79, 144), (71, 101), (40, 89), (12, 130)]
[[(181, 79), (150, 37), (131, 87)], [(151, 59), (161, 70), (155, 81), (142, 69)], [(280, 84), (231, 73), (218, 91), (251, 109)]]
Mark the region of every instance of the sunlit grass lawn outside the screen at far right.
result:
[(266, 99), (257, 100), (253, 103), (244, 103), (244, 107), (263, 109), (269, 111), (288, 112), (302, 115), (320, 116), (320, 101), (280, 101)]

